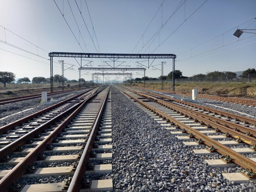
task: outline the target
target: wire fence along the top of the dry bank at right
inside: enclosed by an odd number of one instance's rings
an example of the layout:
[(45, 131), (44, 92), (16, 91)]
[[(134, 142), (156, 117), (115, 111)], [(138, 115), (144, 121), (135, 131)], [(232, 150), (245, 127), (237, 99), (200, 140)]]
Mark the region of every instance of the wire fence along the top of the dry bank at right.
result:
[[(143, 82), (143, 80), (141, 80)], [(161, 83), (162, 80), (147, 80), (146, 83)], [(204, 76), (175, 79), (175, 83), (256, 83), (256, 74), (240, 76)], [(172, 79), (165, 79), (164, 83), (172, 83)]]

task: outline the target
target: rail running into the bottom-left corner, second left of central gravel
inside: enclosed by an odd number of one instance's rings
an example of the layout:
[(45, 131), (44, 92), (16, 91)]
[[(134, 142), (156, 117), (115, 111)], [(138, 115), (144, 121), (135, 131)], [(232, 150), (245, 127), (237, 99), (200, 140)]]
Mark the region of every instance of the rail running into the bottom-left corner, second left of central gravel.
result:
[(56, 127), (49, 134), (48, 137), (46, 137), (40, 144), (38, 144), (36, 148), (33, 149), (33, 151), (31, 151), (23, 160), (20, 161), (20, 163), (18, 163), (8, 174), (6, 174), (0, 180), (0, 189), (2, 192), (7, 192), (9, 190), (9, 187), (12, 185), (12, 182), (18, 180), (26, 172), (26, 168), (29, 164), (33, 164), (36, 161), (38, 154), (43, 152), (48, 144), (52, 143), (52, 140), (55, 137), (57, 137), (57, 135), (62, 131), (62, 129), (65, 128), (66, 125), (72, 120), (72, 118), (76, 116), (76, 114), (84, 107), (84, 105), (88, 101), (92, 100), (92, 98), (94, 98), (99, 92), (96, 92), (86, 100), (81, 101), (79, 107), (76, 108), (76, 110), (72, 112), (71, 115), (69, 115), (58, 127)]

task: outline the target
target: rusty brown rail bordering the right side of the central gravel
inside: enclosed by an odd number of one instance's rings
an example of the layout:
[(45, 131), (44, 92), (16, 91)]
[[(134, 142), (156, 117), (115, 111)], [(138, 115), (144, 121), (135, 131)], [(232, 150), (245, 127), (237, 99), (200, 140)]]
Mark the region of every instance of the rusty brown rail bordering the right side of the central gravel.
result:
[[(117, 89), (119, 89), (119, 88), (117, 88)], [(124, 92), (123, 90), (120, 90), (120, 91)], [(202, 139), (204, 144), (206, 144), (208, 146), (213, 146), (216, 149), (216, 151), (219, 152), (220, 154), (222, 154), (224, 156), (226, 156), (226, 155), (230, 156), (232, 161), (235, 162), (236, 164), (238, 164), (239, 166), (243, 167), (244, 169), (248, 168), (249, 170), (252, 170), (252, 172), (256, 173), (256, 162), (254, 162), (251, 159), (241, 155), (240, 153), (237, 153), (236, 151), (226, 147), (225, 145), (221, 144), (220, 142), (207, 137), (203, 133), (189, 127), (188, 125), (181, 123), (180, 121), (174, 119), (172, 116), (169, 116), (169, 115), (165, 114), (164, 112), (152, 107), (151, 105), (148, 105), (146, 102), (143, 102), (126, 92), (124, 92), (124, 93), (126, 95), (128, 95), (129, 97), (133, 98), (134, 100), (138, 101), (143, 106), (155, 111), (159, 115), (164, 116), (166, 119), (170, 119), (176, 125), (179, 125), (179, 127), (185, 129), (186, 132), (192, 133), (196, 139)]]

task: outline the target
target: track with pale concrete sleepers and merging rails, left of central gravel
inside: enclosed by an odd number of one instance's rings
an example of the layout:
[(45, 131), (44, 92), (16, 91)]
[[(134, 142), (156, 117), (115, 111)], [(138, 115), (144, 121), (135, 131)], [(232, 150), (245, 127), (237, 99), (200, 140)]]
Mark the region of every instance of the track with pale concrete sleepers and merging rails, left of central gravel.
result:
[[(106, 153), (112, 149), (109, 87), (44, 112), (0, 128), (1, 165), (8, 168), (0, 171), (1, 191), (112, 191), (112, 180), (89, 180), (112, 172), (112, 154)], [(41, 184), (17, 181), (31, 177)], [(42, 177), (60, 182), (42, 184)]]

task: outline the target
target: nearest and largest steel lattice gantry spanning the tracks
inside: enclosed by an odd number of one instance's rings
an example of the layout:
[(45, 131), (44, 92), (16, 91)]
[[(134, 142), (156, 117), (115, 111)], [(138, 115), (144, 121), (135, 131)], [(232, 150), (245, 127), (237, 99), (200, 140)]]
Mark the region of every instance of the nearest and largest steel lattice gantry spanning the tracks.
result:
[[(130, 58), (130, 59), (141, 59), (142, 58), (142, 59), (148, 59), (148, 62), (149, 62), (149, 59), (172, 59), (173, 66), (174, 66), (176, 55), (175, 54), (121, 54), (121, 53), (50, 52), (49, 57), (50, 57), (50, 68), (51, 68), (51, 92), (53, 92), (53, 57), (113, 58), (114, 60), (115, 59), (121, 59), (121, 58)], [(81, 66), (80, 69), (82, 69), (82, 66)], [(122, 69), (129, 70), (128, 68), (122, 68)], [(86, 69), (86, 70), (102, 70), (102, 68), (94, 68), (94, 69)], [(104, 70), (106, 70), (106, 69), (104, 69)], [(113, 68), (112, 70), (120, 70), (120, 68)], [(135, 70), (135, 68), (133, 68), (133, 70)], [(144, 74), (145, 74), (145, 70), (144, 70)], [(172, 72), (172, 74), (174, 75), (174, 71)], [(145, 81), (145, 78), (144, 78), (144, 81)], [(174, 81), (172, 81), (172, 89), (174, 89)]]

